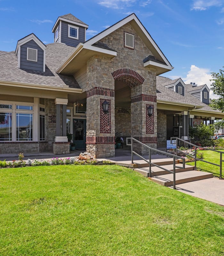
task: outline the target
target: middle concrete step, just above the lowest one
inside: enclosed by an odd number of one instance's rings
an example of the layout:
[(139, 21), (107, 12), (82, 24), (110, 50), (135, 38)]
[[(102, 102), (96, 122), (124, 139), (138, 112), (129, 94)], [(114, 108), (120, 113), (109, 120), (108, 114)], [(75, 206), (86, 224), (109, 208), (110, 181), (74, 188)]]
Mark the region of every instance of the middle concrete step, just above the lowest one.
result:
[[(194, 170), (194, 166), (190, 166), (190, 165), (185, 165), (185, 169), (180, 169), (178, 167), (182, 167), (182, 164), (176, 164), (176, 173), (177, 172), (187, 172), (187, 171), (192, 171)], [(173, 171), (173, 164), (167, 164), (167, 165), (163, 165), (163, 168)], [(143, 176), (145, 177), (149, 177), (149, 167), (144, 167), (144, 168), (135, 168), (134, 169), (136, 172), (141, 173)], [(165, 175), (165, 174), (169, 174), (170, 172), (165, 171), (157, 166), (152, 166), (151, 168), (151, 176), (160, 176), (160, 175)]]

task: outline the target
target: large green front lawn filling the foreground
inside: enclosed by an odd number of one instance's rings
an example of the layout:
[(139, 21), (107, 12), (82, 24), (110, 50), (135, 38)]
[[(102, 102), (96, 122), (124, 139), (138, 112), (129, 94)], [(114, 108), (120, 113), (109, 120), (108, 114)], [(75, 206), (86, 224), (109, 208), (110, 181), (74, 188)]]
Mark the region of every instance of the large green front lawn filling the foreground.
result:
[(0, 169), (0, 255), (220, 256), (224, 207), (116, 165)]

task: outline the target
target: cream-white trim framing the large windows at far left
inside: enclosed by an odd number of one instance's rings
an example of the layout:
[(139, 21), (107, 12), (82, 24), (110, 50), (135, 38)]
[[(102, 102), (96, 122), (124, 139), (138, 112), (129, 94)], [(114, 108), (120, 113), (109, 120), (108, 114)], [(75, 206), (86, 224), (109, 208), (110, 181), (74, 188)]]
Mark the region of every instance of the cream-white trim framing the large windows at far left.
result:
[[(20, 101), (5, 101), (5, 100), (1, 100), (0, 104), (11, 104), (12, 105), (12, 109), (7, 109), (7, 113), (12, 113), (12, 140), (5, 140), (5, 141), (10, 141), (10, 142), (26, 142), (26, 141), (36, 141), (35, 140), (35, 131), (37, 129), (36, 125), (35, 125), (35, 104), (33, 102), (20, 102)], [(24, 105), (24, 106), (33, 106), (33, 110), (20, 110), (20, 109), (16, 109), (16, 105)], [(3, 111), (4, 110), (4, 111)], [(0, 109), (0, 112), (5, 113), (6, 108), (2, 108)], [(16, 114), (17, 113), (24, 113), (24, 114), (33, 114), (33, 140), (16, 140)]]

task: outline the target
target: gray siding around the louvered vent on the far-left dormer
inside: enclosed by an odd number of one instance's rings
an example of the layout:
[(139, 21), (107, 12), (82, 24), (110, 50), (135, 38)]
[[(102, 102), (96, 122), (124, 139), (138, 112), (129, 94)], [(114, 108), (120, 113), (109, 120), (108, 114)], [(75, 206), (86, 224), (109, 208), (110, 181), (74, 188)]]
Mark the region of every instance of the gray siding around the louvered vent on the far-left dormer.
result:
[[(27, 60), (27, 48), (37, 49), (37, 62)], [(28, 43), (21, 45), (20, 68), (43, 71), (44, 51), (34, 42), (34, 40), (30, 40)]]

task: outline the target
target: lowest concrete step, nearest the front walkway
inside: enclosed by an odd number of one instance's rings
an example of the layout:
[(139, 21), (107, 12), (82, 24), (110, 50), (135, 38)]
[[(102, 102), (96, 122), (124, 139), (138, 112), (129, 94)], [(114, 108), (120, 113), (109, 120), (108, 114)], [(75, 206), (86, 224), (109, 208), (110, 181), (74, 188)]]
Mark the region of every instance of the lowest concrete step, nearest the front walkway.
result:
[[(176, 185), (191, 182), (191, 181), (196, 181), (196, 180), (210, 179), (212, 177), (213, 177), (213, 174), (209, 172), (201, 172), (201, 171), (177, 172)], [(161, 176), (154, 176), (150, 179), (166, 187), (173, 185), (172, 173), (161, 175)]]

